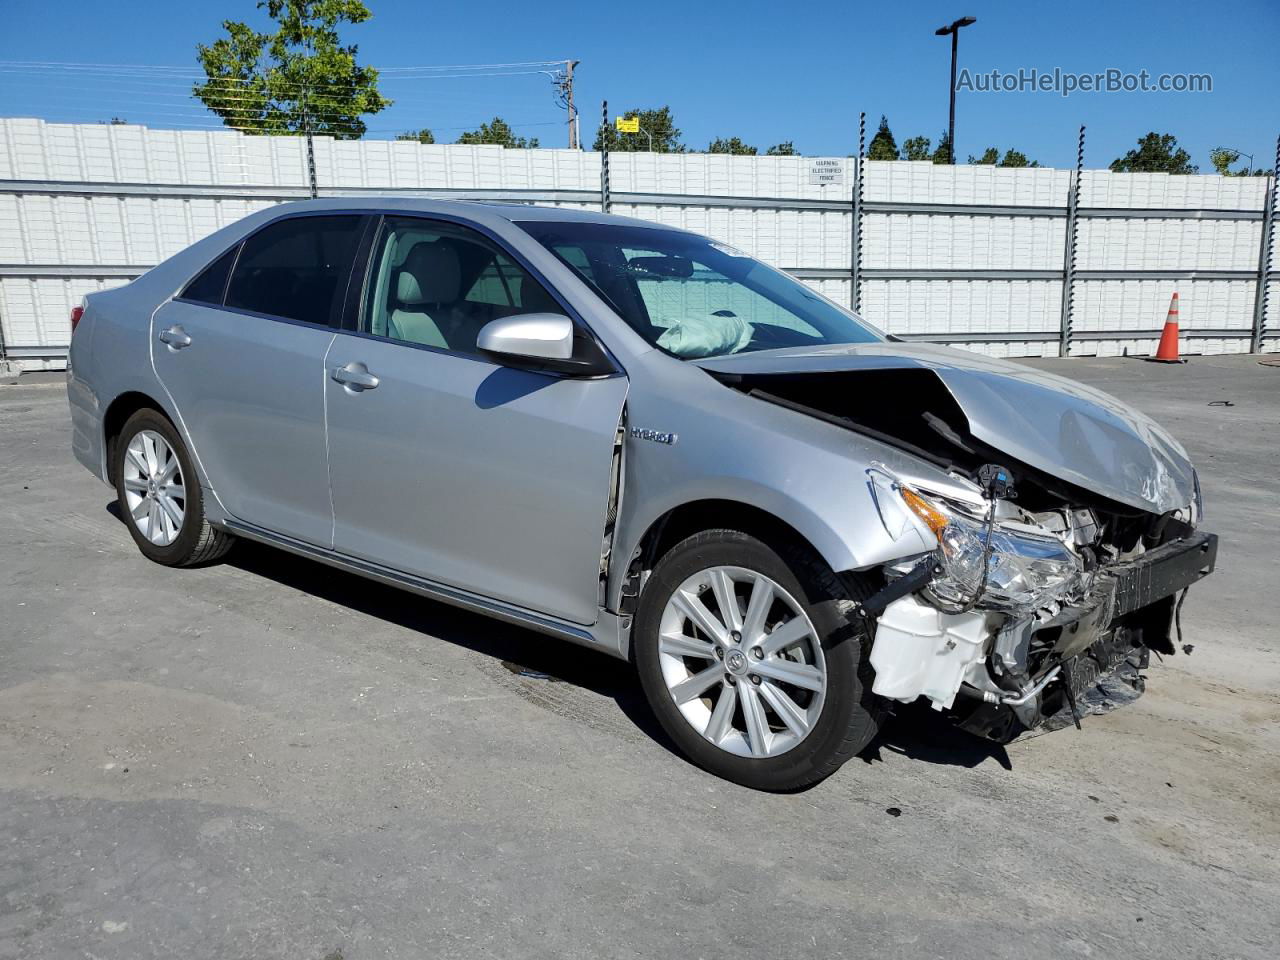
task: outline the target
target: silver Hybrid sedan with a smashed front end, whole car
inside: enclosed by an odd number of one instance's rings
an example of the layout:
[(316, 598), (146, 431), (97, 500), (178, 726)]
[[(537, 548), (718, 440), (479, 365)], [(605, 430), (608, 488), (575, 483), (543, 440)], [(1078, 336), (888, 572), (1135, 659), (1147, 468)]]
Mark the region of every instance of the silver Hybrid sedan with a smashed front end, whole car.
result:
[(893, 703), (1006, 741), (1137, 690), (1215, 562), (1147, 417), (657, 224), (289, 204), (73, 320), (76, 456), (148, 558), (247, 538), (627, 658), (759, 788)]

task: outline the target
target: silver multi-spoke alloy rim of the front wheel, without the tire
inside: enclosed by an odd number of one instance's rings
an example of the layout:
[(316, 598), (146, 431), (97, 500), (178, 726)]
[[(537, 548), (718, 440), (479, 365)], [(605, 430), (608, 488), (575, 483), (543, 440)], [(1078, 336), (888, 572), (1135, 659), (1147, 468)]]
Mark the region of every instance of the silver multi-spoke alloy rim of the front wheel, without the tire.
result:
[(813, 622), (753, 570), (710, 567), (685, 580), (663, 609), (658, 660), (689, 724), (739, 756), (791, 750), (822, 714), (827, 667)]

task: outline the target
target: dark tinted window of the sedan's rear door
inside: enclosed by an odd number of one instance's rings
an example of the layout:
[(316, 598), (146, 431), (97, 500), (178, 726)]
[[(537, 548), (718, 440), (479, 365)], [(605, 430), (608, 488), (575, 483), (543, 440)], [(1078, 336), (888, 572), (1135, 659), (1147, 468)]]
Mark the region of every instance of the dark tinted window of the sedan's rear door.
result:
[(347, 289), (358, 216), (297, 216), (266, 227), (236, 261), (227, 306), (328, 324)]

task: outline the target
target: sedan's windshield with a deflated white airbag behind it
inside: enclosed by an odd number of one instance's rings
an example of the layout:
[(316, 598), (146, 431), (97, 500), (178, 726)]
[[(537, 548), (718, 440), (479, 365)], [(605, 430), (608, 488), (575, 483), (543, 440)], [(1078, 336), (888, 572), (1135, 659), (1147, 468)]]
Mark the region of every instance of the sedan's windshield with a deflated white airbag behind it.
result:
[(883, 340), (799, 280), (707, 237), (563, 220), (520, 227), (677, 357)]

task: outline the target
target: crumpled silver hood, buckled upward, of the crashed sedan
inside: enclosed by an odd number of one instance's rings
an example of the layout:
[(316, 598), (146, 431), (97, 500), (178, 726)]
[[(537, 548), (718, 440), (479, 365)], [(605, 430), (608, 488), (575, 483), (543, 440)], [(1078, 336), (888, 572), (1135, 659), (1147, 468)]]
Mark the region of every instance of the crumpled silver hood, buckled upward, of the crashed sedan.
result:
[(1028, 466), (1152, 513), (1185, 507), (1194, 492), (1187, 451), (1151, 417), (1102, 390), (1019, 364), (908, 343), (759, 351), (691, 362), (741, 375), (932, 370), (960, 406), (969, 431)]

